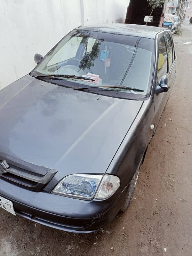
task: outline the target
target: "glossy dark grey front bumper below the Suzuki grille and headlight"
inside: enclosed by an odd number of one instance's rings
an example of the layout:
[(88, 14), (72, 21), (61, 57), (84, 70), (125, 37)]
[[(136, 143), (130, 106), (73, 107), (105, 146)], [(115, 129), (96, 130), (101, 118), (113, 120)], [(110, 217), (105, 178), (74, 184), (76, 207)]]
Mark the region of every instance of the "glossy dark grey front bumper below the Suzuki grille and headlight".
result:
[(119, 212), (123, 198), (120, 188), (106, 200), (85, 201), (0, 182), (0, 196), (12, 201), (16, 214), (74, 233), (92, 233), (104, 227)]

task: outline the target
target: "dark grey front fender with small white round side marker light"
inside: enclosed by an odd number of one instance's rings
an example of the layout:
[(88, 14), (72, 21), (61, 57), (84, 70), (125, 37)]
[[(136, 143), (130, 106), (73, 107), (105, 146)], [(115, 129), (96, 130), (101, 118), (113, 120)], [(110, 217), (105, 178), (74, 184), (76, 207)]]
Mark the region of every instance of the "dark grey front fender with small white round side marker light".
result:
[(132, 177), (153, 136), (155, 109), (152, 96), (143, 102), (132, 126), (118, 148), (107, 173), (117, 175), (121, 181), (121, 190), (131, 182)]

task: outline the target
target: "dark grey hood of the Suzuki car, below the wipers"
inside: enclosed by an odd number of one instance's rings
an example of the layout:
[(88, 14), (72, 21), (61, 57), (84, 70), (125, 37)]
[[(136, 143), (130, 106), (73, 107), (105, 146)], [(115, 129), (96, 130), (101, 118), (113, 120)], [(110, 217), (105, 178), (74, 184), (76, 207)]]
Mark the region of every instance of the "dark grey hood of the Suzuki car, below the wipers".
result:
[(63, 177), (104, 173), (142, 103), (24, 76), (0, 91), (0, 152)]

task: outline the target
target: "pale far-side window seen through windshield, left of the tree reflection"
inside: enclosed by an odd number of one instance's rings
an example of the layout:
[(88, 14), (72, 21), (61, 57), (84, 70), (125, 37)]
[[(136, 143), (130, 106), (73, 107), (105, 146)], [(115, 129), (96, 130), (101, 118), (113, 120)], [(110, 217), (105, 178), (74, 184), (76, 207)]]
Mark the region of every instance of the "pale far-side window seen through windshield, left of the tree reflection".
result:
[(48, 62), (47, 66), (56, 64), (58, 62), (62, 62), (65, 60), (69, 60), (76, 56), (77, 50), (79, 48), (79, 45), (81, 43), (82, 38), (74, 36), (71, 38), (70, 41), (68, 41), (66, 44), (64, 44), (58, 52), (55, 53), (55, 55), (51, 58), (51, 60)]

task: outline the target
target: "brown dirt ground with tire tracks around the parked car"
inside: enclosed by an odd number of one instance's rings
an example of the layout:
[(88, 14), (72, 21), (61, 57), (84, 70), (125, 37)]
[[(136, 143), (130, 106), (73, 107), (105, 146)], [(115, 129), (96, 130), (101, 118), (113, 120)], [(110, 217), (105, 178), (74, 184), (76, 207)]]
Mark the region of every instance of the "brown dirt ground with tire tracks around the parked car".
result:
[(182, 28), (174, 36), (177, 78), (127, 212), (77, 235), (0, 209), (0, 256), (192, 255), (192, 25)]

